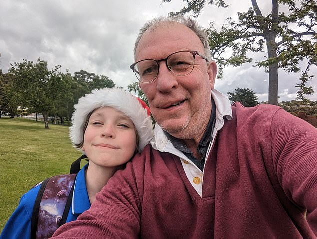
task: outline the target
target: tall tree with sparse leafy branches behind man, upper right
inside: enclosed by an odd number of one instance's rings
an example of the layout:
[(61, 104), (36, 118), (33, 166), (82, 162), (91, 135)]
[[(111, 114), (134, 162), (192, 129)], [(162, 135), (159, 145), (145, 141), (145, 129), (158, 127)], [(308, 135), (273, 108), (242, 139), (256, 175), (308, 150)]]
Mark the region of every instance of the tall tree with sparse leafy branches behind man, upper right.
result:
[[(163, 0), (170, 2), (171, 0)], [(206, 0), (184, 0), (187, 6), (179, 12), (193, 12), (197, 17), (203, 9)], [(224, 0), (208, 0), (208, 4), (218, 7), (228, 7)], [(313, 94), (312, 87), (306, 87), (306, 82), (313, 76), (309, 75), (312, 65), (317, 65), (317, 10), (315, 0), (272, 0), (272, 11), (262, 15), (256, 0), (251, 0), (252, 7), (247, 12), (238, 12), (238, 21), (232, 18), (216, 30), (210, 23), (207, 33), (210, 38), (211, 54), (219, 68), (218, 78), (223, 77), (223, 68), (228, 65), (240, 66), (253, 59), (248, 52), (265, 52), (266, 59), (256, 62), (254, 66), (263, 67), (269, 73), (268, 103), (277, 105), (278, 101), (278, 69), (300, 72), (301, 83), (296, 84), (298, 98)], [(288, 13), (279, 12), (280, 5), (288, 7)], [(266, 49), (264, 47), (266, 46)], [(225, 58), (224, 53), (230, 49), (232, 54)], [(299, 63), (307, 60), (306, 68), (302, 70)]]

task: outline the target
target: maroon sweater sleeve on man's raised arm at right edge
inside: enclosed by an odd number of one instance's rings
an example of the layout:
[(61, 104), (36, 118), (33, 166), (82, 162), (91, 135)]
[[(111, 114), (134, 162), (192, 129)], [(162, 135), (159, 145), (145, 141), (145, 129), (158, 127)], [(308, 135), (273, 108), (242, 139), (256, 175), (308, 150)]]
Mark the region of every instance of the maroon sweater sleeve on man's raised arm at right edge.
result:
[(286, 196), (303, 211), (317, 234), (317, 129), (284, 110), (271, 125), (274, 171)]

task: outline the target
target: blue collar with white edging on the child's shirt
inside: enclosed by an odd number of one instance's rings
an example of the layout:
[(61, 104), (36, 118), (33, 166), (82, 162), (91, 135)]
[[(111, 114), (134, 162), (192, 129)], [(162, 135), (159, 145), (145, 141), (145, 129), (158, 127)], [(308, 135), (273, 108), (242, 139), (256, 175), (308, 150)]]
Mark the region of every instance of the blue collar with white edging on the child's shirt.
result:
[(85, 179), (85, 170), (89, 163), (78, 172), (72, 197), (72, 214), (81, 214), (91, 206)]

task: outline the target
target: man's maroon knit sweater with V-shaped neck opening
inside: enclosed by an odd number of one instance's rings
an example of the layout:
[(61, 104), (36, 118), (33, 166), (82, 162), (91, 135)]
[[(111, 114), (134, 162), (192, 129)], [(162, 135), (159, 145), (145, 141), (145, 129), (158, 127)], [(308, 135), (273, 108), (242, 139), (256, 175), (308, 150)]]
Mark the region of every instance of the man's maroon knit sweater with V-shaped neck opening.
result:
[(206, 161), (202, 198), (178, 157), (147, 146), (54, 235), (315, 238), (317, 130), (271, 105), (232, 111)]

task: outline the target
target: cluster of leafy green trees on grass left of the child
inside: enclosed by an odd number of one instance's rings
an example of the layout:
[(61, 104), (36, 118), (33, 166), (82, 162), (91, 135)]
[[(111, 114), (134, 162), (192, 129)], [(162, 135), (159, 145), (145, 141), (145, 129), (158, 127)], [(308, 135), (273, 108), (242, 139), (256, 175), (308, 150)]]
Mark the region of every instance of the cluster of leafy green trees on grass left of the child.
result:
[[(35, 63), (24, 59), (11, 64), (8, 73), (0, 71), (0, 111), (10, 117), (27, 113), (41, 113), (45, 128), (48, 118), (70, 121), (78, 99), (93, 89), (113, 88), (115, 83), (104, 75), (80, 70), (71, 75), (60, 72), (61, 65), (49, 70), (47, 62)], [(19, 112), (20, 111), (20, 112)], [(26, 112), (27, 111), (27, 112)]]

